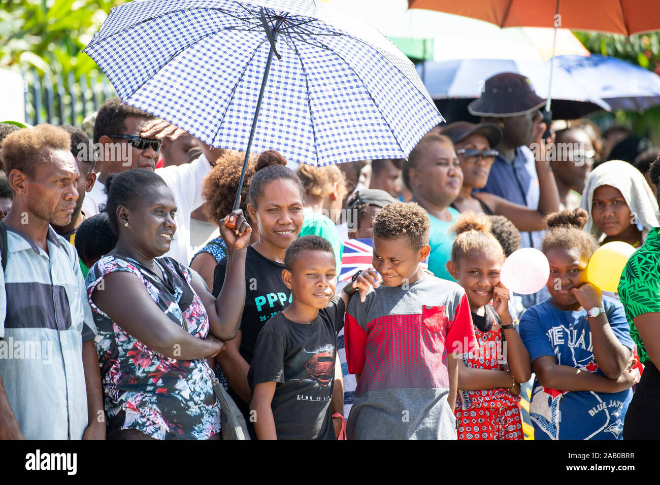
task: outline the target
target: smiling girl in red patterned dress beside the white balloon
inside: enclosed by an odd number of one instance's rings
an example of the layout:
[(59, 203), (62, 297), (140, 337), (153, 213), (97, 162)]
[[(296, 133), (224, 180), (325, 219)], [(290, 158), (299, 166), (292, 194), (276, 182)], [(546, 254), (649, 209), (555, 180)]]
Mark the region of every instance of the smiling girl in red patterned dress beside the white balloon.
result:
[(484, 214), (463, 212), (453, 232), (447, 270), (465, 289), (479, 342), (478, 352), (458, 360), (458, 438), (523, 439), (520, 383), (529, 380), (531, 364), (500, 283), (504, 251)]

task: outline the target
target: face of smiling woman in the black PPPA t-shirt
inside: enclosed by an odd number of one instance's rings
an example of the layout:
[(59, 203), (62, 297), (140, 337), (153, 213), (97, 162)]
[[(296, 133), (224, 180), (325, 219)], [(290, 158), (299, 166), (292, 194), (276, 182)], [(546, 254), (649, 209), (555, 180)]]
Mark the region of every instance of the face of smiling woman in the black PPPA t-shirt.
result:
[(286, 249), (302, 229), (302, 208), (298, 185), (290, 179), (276, 179), (263, 187), (257, 207), (248, 205), (248, 212), (257, 221), (260, 239)]

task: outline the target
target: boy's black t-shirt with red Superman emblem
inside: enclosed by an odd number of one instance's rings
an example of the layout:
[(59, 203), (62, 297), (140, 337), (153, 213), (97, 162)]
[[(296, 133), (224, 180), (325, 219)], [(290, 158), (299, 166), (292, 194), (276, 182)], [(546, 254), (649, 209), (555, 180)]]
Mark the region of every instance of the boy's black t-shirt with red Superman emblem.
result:
[(312, 323), (278, 313), (259, 333), (248, 382), (252, 389), (277, 383), (271, 408), (278, 439), (335, 439), (330, 401), (345, 311), (335, 296)]

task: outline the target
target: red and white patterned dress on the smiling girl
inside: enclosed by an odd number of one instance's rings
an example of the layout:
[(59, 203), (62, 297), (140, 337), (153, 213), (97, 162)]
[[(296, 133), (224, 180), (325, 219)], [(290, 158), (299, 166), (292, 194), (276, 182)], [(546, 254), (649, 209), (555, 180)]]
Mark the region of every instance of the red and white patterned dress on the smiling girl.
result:
[[(486, 305), (484, 317), (472, 314), (479, 352), (463, 356), (465, 367), (504, 370), (500, 317)], [(486, 330), (486, 331), (484, 331)], [(520, 398), (504, 388), (459, 391), (456, 399), (458, 439), (523, 439)]]

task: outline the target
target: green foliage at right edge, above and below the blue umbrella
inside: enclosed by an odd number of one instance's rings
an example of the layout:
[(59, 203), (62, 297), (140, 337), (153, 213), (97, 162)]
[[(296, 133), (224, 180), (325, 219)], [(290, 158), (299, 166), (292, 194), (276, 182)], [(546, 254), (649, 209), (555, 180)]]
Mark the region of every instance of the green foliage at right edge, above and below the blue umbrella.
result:
[[(618, 57), (660, 75), (660, 32), (630, 37), (595, 32), (574, 32), (574, 34), (590, 52)], [(637, 135), (645, 136), (655, 145), (660, 145), (660, 106), (643, 113), (600, 113), (592, 118), (601, 127), (613, 123), (627, 125)]]

